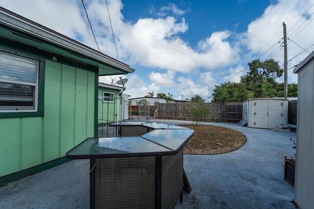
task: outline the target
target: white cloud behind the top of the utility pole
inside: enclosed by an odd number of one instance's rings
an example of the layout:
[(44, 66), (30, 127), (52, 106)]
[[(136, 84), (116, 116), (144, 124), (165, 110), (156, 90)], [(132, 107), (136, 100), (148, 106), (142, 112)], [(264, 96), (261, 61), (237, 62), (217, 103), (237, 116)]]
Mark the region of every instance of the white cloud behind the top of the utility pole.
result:
[[(301, 1), (295, 8), (294, 6), (298, 3), (297, 0), (279, 0), (276, 4), (268, 6), (263, 15), (248, 25), (247, 33), (245, 34), (245, 42), (247, 48), (254, 54), (262, 54), (265, 50), (275, 45), (268, 52), (265, 53), (264, 58), (273, 57), (275, 60), (283, 61), (283, 22), (287, 25), (287, 37), (293, 40), (288, 40), (288, 59), (293, 58), (299, 54), (303, 49), (300, 46), (309, 46), (309, 40), (312, 38), (314, 33), (313, 16), (309, 18), (309, 14), (314, 12), (314, 7), (308, 11), (308, 15), (304, 15), (305, 12), (310, 8), (310, 4), (313, 4), (313, 0)], [(294, 8), (294, 9), (293, 9)], [(293, 12), (290, 13), (293, 9)], [(287, 20), (285, 20), (288, 17)], [(306, 26), (302, 31), (301, 29)], [(276, 42), (280, 41), (281, 44)], [(266, 47), (267, 46), (267, 47)], [(278, 53), (278, 49), (281, 49)], [(275, 50), (273, 50), (275, 49)], [(312, 48), (313, 50), (313, 48)], [(312, 51), (311, 50), (311, 51)], [(310, 51), (310, 52), (311, 52)], [(273, 52), (271, 55), (270, 53)], [(277, 54), (277, 55), (276, 55)], [(269, 56), (270, 55), (270, 56)], [(276, 56), (274, 56), (276, 55)], [(300, 57), (300, 58), (299, 58)], [(299, 63), (304, 59), (305, 56), (299, 56), (293, 59), (295, 63)]]

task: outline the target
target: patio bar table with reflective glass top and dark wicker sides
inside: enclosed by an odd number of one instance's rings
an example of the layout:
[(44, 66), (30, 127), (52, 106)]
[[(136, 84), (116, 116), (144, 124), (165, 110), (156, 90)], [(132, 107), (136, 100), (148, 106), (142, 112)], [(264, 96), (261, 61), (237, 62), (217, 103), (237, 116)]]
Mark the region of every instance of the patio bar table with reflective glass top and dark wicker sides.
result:
[(91, 208), (174, 208), (182, 200), (183, 146), (194, 131), (142, 126), (151, 131), (88, 138), (66, 153), (69, 159), (90, 159)]

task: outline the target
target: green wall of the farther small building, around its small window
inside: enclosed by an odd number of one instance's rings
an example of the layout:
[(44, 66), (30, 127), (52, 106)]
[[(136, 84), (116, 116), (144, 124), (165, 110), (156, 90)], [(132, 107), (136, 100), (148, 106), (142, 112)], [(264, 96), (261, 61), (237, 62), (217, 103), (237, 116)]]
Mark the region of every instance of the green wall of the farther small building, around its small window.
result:
[(121, 121), (121, 97), (119, 90), (99, 87), (98, 98), (102, 98), (105, 93), (113, 93), (114, 102), (98, 100), (98, 123), (110, 123)]

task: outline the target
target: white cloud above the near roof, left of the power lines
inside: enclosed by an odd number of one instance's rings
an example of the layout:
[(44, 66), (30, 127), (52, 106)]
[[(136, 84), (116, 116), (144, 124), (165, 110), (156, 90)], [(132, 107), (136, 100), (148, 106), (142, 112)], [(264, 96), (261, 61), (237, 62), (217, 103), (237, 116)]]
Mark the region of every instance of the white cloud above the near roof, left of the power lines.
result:
[(1, 6), (71, 38), (89, 37), (78, 1), (1, 0)]

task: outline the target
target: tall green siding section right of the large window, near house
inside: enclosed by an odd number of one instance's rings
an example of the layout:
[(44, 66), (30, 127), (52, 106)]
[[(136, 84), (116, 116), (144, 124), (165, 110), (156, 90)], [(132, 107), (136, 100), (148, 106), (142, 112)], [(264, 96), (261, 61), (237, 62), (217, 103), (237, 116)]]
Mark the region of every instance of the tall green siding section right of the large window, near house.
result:
[(95, 73), (46, 62), (44, 163), (94, 137)]

